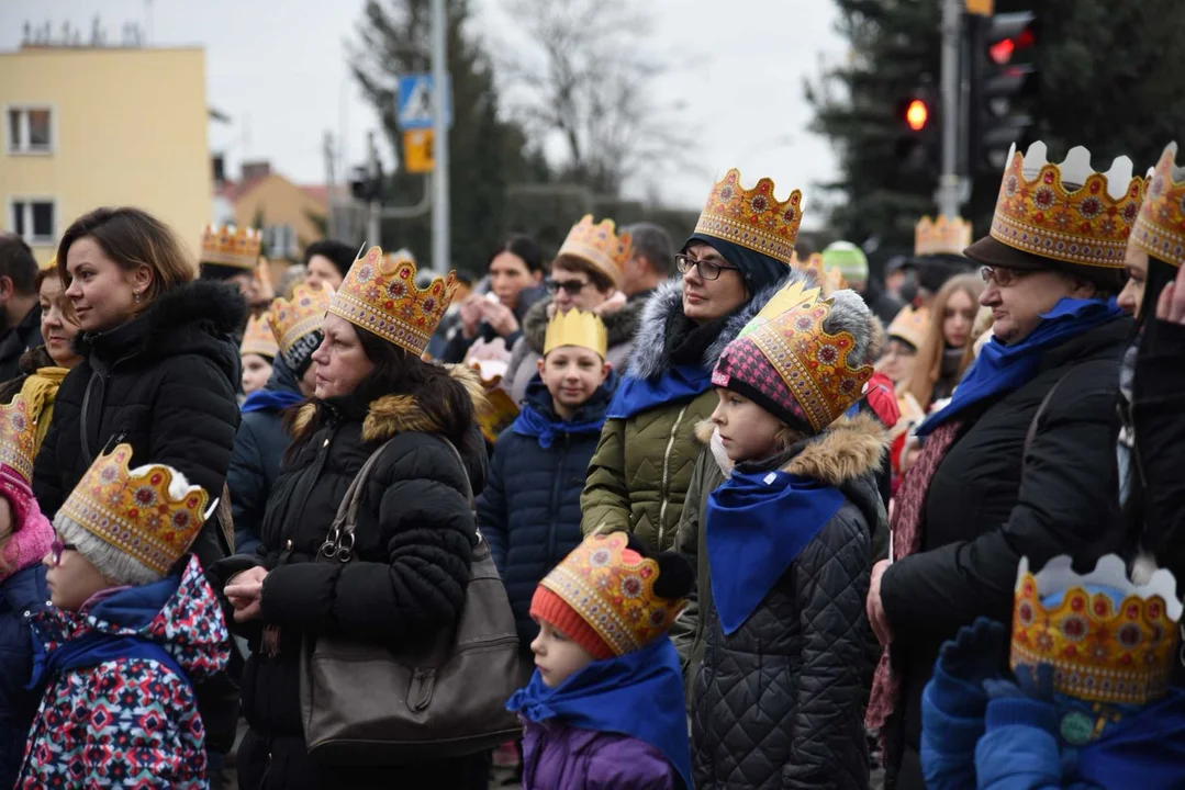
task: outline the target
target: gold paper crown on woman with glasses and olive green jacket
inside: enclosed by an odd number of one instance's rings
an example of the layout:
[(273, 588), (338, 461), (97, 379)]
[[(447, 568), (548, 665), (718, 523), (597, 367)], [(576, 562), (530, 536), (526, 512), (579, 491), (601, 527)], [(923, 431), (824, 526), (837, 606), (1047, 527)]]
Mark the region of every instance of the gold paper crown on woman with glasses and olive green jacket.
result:
[(745, 190), (741, 171), (732, 168), (707, 195), (696, 233), (739, 244), (789, 265), (801, 221), (801, 192), (795, 190), (781, 201), (774, 195), (770, 179)]

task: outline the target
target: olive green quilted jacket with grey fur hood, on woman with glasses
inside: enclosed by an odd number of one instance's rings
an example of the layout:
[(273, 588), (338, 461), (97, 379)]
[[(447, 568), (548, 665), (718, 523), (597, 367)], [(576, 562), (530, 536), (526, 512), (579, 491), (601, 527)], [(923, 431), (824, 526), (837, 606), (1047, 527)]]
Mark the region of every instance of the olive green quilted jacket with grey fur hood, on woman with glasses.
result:
[[(760, 291), (729, 316), (719, 336), (703, 353), (704, 370), (716, 361), (782, 283)], [(628, 374), (654, 379), (671, 367), (667, 328), (683, 313), (683, 283), (672, 280), (655, 290), (642, 309)], [(590, 534), (628, 531), (653, 550), (674, 545), (675, 529), (699, 457), (694, 429), (716, 409), (716, 393), (662, 404), (628, 419), (606, 420), (581, 496), (581, 529)]]

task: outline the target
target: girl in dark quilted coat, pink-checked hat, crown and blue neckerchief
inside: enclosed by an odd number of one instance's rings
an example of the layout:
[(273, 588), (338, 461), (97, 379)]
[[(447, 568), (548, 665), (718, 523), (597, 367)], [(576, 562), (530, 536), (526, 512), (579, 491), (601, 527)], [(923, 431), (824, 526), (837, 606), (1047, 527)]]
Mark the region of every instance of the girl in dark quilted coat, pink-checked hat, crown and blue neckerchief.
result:
[(719, 477), (697, 475), (699, 506), (680, 525), (680, 546), (700, 557), (697, 788), (869, 783), (864, 598), (871, 537), (885, 528), (875, 475), (888, 435), (872, 415), (844, 415), (872, 375), (879, 322), (856, 293), (820, 300), (806, 282), (779, 291), (712, 374), (699, 468), (730, 469), (710, 492), (703, 481)]

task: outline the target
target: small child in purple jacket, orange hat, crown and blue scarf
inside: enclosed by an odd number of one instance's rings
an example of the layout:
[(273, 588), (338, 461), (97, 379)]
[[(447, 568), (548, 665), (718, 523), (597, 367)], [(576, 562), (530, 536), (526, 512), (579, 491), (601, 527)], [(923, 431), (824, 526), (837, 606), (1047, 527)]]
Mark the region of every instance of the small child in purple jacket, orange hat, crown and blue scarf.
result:
[(634, 535), (589, 535), (536, 587), (524, 790), (691, 790), (679, 655), (667, 636), (693, 579)]

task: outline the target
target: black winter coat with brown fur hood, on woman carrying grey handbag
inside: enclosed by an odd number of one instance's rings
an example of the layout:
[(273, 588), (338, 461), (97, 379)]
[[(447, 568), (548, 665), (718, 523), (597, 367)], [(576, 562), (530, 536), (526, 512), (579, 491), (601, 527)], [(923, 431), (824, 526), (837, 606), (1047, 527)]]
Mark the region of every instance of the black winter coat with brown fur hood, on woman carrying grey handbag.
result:
[[(481, 384), (457, 371), (475, 403)], [(309, 760), (300, 718), (302, 637), (320, 634), (415, 648), (456, 622), (476, 539), (466, 476), (480, 490), (485, 444), (476, 425), (460, 429), (453, 450), (436, 433), (457, 432), (423, 410), (415, 394), (373, 403), (344, 397), (308, 403), (294, 425), (294, 444), (268, 500), (254, 560), (269, 573), (262, 616), (239, 629), (252, 655), (243, 672), (243, 713), (250, 725), (239, 747), (239, 786), (369, 788), (472, 786), (473, 760), (415, 764), (393, 770), (322, 767)], [(346, 488), (363, 463), (391, 439), (363, 494), (354, 558), (315, 563)], [(214, 573), (225, 583), (252, 560), (233, 557)], [(222, 589), (222, 587), (219, 587)], [(278, 628), (268, 655), (261, 625)]]

